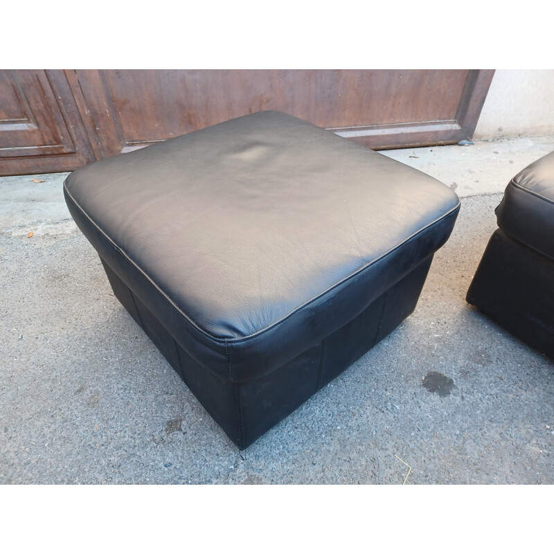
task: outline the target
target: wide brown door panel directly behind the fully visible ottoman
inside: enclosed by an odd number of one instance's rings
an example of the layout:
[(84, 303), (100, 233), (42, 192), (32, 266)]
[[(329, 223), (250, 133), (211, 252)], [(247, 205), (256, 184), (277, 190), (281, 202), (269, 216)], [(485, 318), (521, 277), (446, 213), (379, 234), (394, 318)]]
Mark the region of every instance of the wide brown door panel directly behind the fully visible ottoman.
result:
[(493, 73), (77, 71), (105, 156), (267, 109), (285, 111), (370, 148), (456, 143), (471, 137)]

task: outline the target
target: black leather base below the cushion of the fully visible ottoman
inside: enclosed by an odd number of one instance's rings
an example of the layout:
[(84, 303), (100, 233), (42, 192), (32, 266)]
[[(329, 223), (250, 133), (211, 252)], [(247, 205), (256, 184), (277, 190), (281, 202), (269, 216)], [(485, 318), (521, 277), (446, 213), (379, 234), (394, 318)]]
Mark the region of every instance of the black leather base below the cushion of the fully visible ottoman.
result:
[[(104, 265), (111, 287), (204, 409), (240, 449), (251, 445), (386, 337), (413, 312), (431, 256), (359, 316), (276, 370), (244, 383), (218, 377), (188, 354), (168, 329)], [(182, 338), (182, 337), (180, 337)]]

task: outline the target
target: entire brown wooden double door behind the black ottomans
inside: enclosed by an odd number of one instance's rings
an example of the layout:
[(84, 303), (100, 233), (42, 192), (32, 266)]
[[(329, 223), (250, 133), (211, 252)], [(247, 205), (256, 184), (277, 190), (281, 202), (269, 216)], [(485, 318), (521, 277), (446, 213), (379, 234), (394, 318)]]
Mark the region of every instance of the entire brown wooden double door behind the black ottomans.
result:
[(69, 171), (254, 111), (376, 150), (470, 139), (494, 70), (0, 71), (0, 175)]

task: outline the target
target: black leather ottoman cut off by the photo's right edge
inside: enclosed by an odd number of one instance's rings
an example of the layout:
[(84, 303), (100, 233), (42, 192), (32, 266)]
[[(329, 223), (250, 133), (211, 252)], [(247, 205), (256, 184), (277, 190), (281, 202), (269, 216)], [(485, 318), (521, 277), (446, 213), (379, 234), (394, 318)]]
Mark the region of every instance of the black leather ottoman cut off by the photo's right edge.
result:
[(554, 359), (554, 152), (508, 183), (495, 213), (467, 302)]

